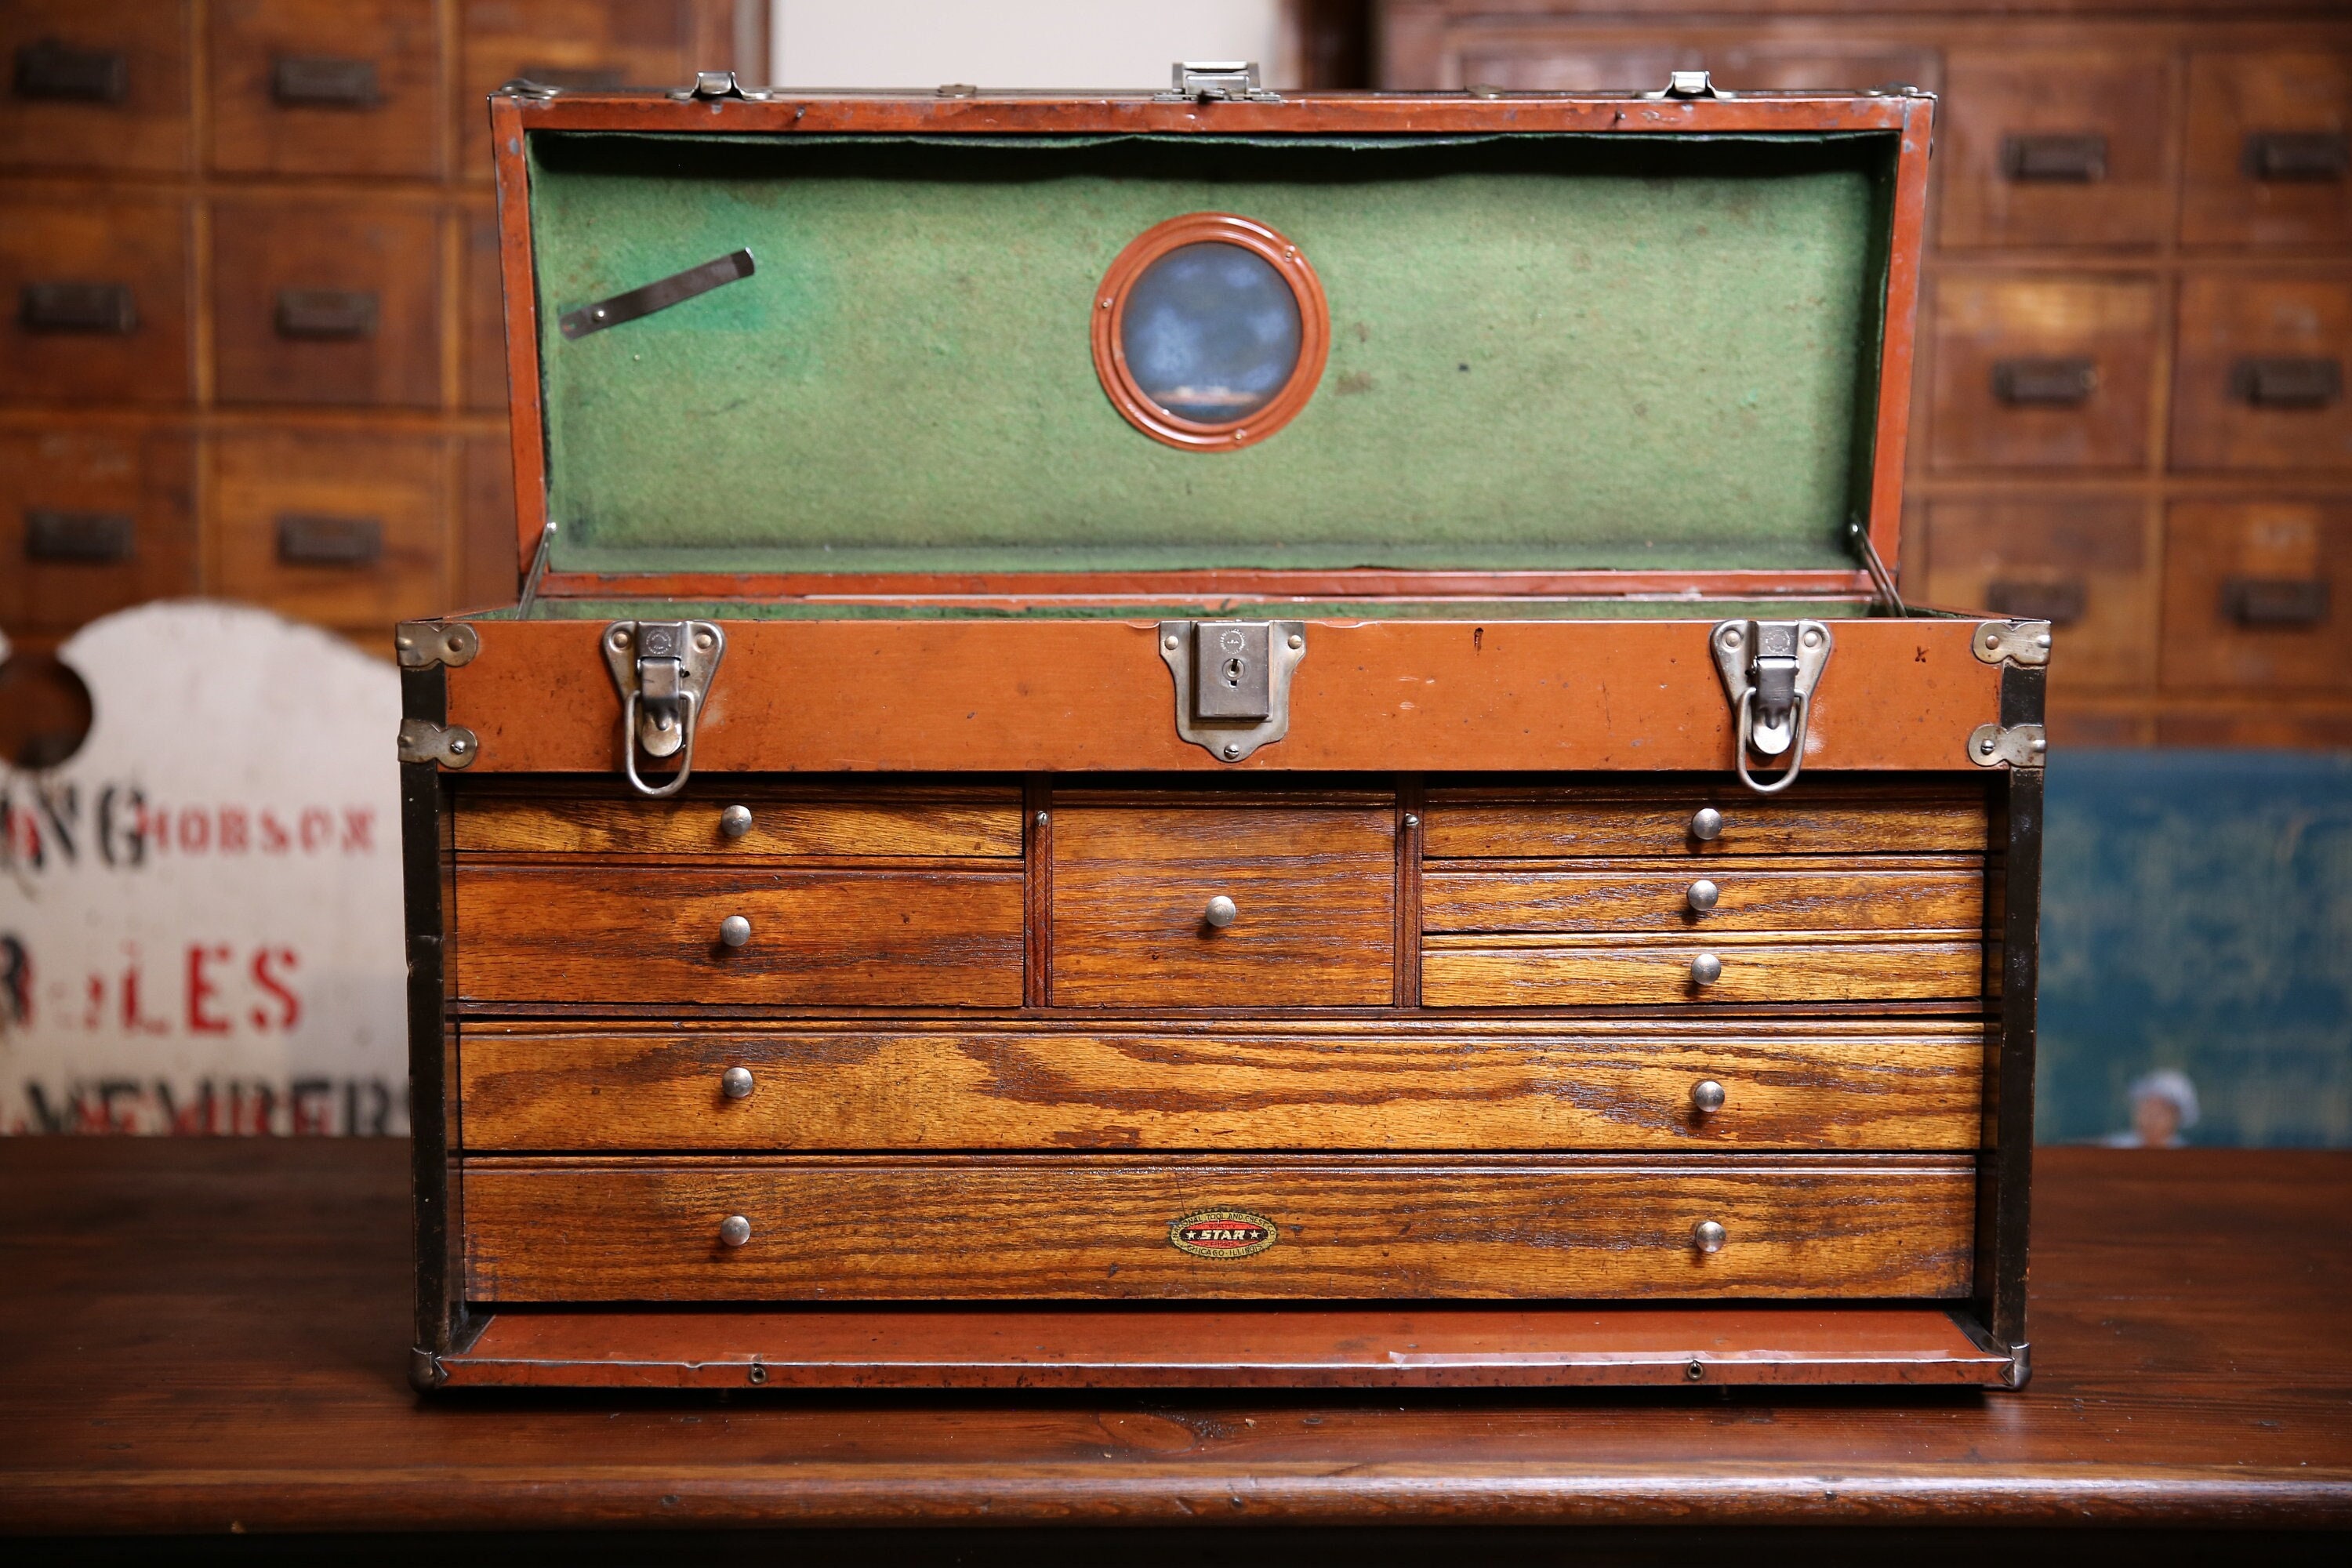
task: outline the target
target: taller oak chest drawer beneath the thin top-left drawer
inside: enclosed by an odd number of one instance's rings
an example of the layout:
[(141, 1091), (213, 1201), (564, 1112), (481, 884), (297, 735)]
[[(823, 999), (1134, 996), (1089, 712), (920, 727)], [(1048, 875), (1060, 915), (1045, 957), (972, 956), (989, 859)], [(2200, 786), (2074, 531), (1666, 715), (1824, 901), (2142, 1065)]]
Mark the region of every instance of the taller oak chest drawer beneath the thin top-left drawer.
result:
[[(468, 1001), (1021, 1006), (1021, 872), (466, 863)], [(729, 947), (729, 917), (750, 938)]]

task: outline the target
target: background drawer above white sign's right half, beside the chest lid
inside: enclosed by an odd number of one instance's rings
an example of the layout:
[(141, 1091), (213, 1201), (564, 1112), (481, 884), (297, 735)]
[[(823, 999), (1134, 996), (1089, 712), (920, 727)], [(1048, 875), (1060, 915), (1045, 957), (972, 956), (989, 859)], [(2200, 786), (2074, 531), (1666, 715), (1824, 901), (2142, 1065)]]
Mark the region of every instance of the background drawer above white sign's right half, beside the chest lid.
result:
[(205, 545), (219, 592), (365, 635), (449, 607), (447, 449), (430, 437), (221, 435)]

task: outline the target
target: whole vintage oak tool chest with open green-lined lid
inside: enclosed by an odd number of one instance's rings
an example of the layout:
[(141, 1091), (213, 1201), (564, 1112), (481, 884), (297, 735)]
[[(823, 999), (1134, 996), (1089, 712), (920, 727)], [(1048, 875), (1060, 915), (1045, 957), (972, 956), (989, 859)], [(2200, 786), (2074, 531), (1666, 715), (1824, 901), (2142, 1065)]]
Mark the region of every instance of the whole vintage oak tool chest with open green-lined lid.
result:
[(416, 1382), (2018, 1385), (2049, 628), (1879, 564), (1931, 108), (499, 94)]

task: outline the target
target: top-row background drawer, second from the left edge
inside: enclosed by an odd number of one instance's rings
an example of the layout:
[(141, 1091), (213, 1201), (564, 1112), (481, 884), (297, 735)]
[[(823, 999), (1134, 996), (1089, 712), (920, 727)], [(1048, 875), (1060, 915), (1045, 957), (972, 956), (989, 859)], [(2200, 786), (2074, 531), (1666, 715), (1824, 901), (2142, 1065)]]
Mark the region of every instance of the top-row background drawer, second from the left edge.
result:
[(435, 0), (212, 5), (212, 167), (388, 174), (442, 167)]

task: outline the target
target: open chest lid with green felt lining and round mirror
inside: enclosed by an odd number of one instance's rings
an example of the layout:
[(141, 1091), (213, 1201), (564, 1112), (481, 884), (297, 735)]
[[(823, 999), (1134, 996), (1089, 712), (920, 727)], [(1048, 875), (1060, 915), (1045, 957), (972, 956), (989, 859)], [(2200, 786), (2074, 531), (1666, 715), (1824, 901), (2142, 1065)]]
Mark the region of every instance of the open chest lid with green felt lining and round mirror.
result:
[(515, 85), (517, 576), (543, 548), (557, 602), (1860, 595), (1863, 541), (1896, 559), (1929, 115), (1703, 80)]

